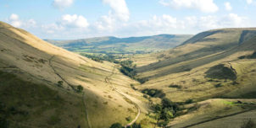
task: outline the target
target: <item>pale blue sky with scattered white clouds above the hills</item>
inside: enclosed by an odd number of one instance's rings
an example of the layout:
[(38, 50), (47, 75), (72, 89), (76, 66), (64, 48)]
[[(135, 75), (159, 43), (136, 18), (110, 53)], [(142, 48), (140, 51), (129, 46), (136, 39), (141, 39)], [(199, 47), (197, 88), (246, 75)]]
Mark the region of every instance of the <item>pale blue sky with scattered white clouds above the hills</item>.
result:
[(0, 0), (0, 20), (42, 39), (256, 27), (256, 0)]

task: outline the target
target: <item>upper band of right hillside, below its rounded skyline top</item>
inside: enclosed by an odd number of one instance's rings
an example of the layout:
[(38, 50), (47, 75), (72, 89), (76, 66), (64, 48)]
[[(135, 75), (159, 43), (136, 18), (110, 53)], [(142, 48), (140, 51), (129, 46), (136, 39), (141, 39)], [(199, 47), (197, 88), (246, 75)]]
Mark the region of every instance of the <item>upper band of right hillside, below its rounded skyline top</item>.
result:
[(250, 40), (255, 35), (256, 28), (209, 30), (193, 36), (169, 51), (145, 55), (147, 57), (141, 56), (142, 58), (150, 58), (150, 60), (143, 60), (140, 56), (134, 57), (133, 60), (137, 61), (137, 72), (143, 72), (144, 69), (145, 71), (155, 70), (229, 50), (241, 45), (246, 40)]

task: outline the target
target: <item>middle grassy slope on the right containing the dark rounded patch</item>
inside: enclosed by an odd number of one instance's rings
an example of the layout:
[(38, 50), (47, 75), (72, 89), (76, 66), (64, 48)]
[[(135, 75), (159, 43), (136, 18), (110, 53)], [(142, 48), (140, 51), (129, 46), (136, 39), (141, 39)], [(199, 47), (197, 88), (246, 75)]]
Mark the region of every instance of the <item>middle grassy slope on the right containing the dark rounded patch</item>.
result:
[[(173, 71), (181, 69), (179, 67), (192, 68), (149, 79), (138, 88), (161, 89), (166, 97), (179, 102), (187, 99), (256, 98), (255, 51), (256, 36), (230, 51), (170, 66)], [(198, 63), (203, 65), (197, 66)]]

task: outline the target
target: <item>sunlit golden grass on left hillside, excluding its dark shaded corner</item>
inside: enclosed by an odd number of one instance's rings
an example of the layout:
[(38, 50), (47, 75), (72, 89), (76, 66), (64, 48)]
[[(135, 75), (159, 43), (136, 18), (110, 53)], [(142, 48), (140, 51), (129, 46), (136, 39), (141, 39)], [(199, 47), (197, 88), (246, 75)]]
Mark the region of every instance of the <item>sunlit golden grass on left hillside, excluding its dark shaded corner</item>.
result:
[[(0, 28), (1, 71), (14, 73), (31, 83), (47, 83), (49, 88), (61, 89), (63, 91), (59, 93), (63, 98), (67, 93), (75, 94), (75, 97), (70, 95), (69, 99), (82, 103), (82, 95), (76, 94), (70, 86), (81, 85), (84, 87), (86, 107), (77, 104), (78, 106), (67, 110), (86, 109), (93, 128), (109, 127), (116, 122), (125, 125), (126, 117), (131, 116), (133, 119), (136, 116), (135, 106), (127, 103), (124, 97), (114, 92), (106, 82), (105, 78), (111, 74), (111, 83), (122, 92), (129, 92), (127, 95), (140, 104), (143, 113), (147, 113), (147, 100), (142, 98), (142, 93), (132, 90), (130, 86), (131, 83), (137, 82), (120, 73), (114, 64), (99, 63), (65, 51), (25, 30), (2, 22)], [(25, 73), (35, 78), (25, 77)], [(63, 88), (56, 88), (58, 81), (64, 81)], [(34, 119), (31, 117), (30, 120)], [(86, 120), (86, 116), (78, 117), (77, 120)]]

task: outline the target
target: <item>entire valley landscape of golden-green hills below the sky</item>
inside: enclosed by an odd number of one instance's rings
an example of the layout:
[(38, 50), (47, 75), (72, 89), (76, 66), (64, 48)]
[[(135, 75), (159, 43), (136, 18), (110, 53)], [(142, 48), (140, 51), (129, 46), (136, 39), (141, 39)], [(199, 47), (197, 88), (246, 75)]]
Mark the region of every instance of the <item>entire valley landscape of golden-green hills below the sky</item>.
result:
[(0, 125), (240, 128), (256, 119), (255, 28), (85, 40), (0, 28)]

